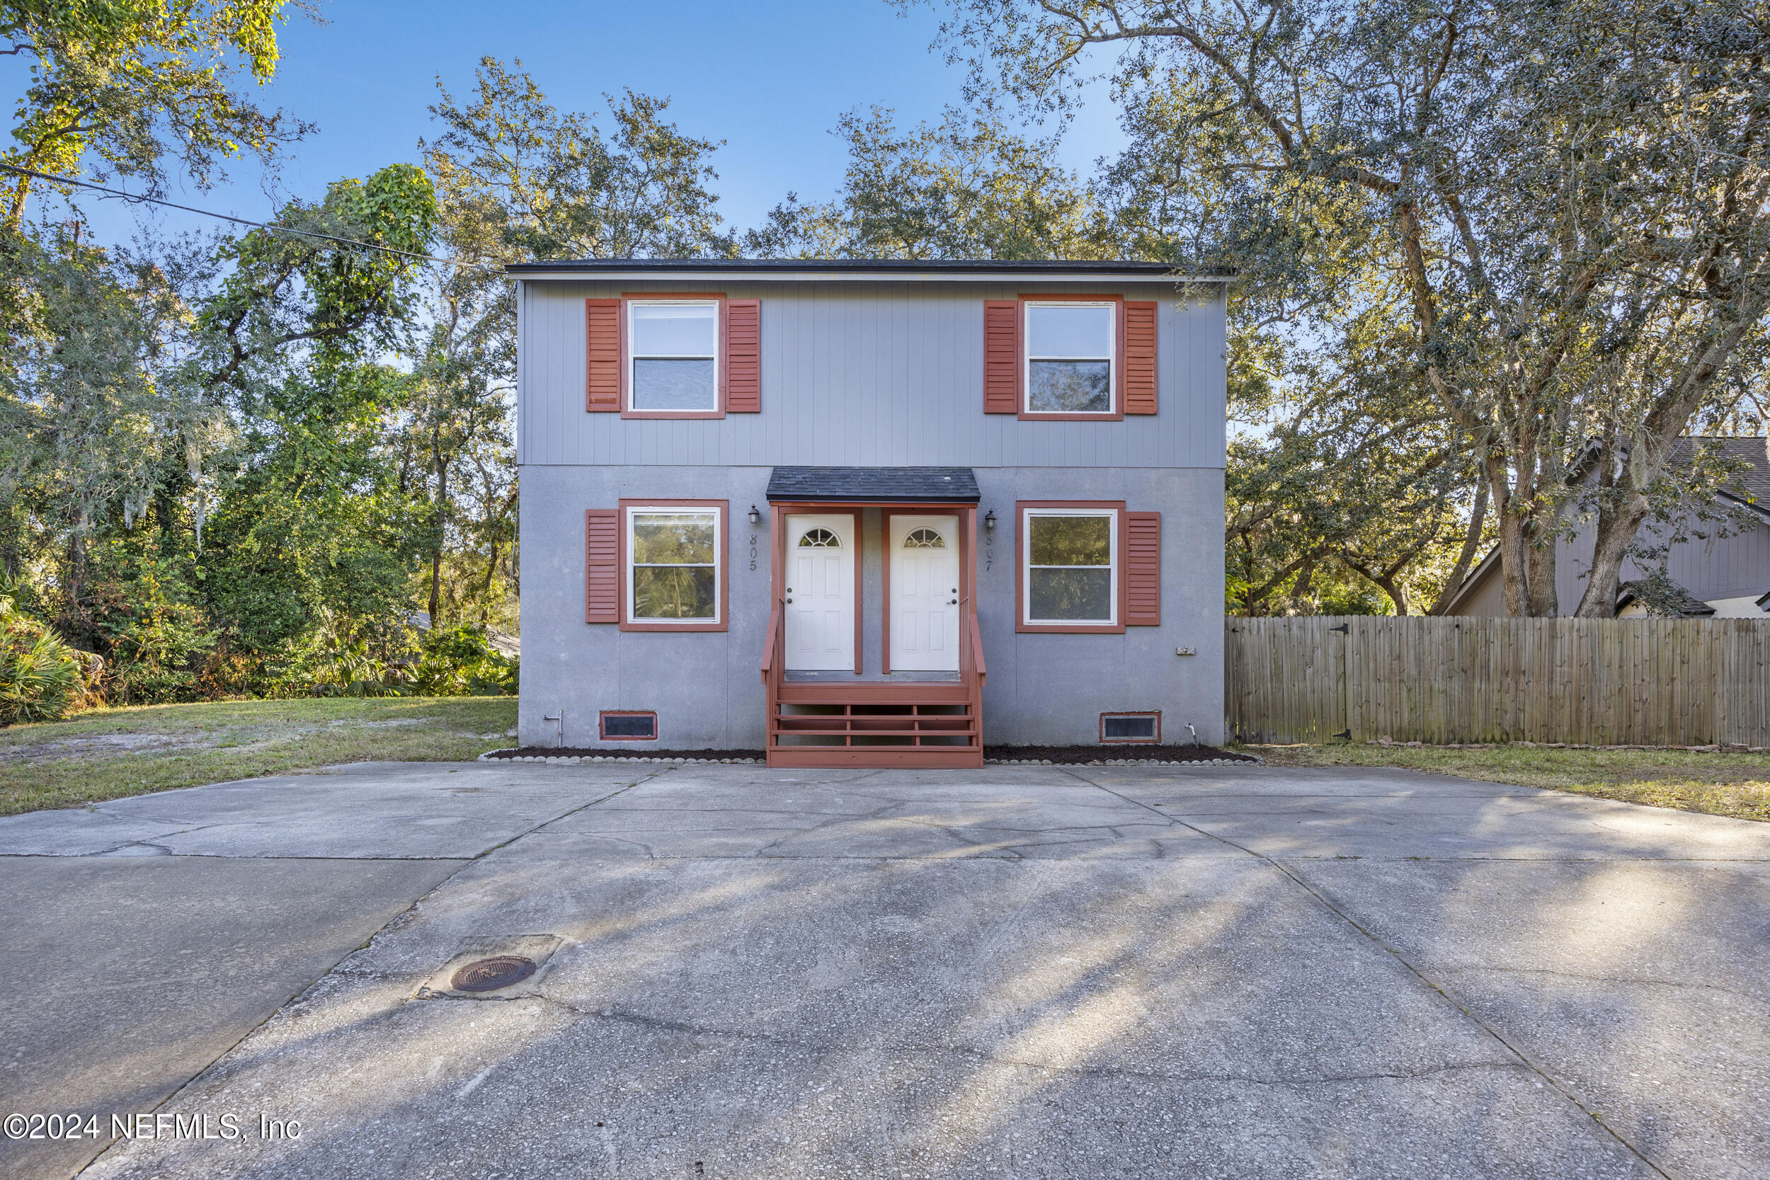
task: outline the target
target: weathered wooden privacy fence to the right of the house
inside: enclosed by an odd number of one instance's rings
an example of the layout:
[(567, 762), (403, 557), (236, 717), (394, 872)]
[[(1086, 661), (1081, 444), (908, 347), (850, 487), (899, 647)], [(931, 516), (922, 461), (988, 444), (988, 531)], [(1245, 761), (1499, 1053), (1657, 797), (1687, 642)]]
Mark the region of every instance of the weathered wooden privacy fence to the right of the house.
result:
[(1770, 745), (1770, 621), (1225, 619), (1243, 741)]

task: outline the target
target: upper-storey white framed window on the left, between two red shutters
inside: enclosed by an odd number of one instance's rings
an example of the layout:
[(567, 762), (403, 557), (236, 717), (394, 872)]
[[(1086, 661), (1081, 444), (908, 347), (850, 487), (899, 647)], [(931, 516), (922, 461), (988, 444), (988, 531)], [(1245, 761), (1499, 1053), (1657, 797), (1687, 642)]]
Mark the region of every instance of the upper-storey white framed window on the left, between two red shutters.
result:
[(719, 410), (717, 299), (630, 299), (627, 341), (627, 409)]

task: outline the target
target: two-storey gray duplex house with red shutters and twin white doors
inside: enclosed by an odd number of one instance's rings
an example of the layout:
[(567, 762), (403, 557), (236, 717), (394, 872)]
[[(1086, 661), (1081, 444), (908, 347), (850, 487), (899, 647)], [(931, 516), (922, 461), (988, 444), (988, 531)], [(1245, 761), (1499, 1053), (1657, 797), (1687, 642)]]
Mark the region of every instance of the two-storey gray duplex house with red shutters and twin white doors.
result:
[(977, 766), (1221, 739), (1221, 278), (512, 274), (524, 745)]

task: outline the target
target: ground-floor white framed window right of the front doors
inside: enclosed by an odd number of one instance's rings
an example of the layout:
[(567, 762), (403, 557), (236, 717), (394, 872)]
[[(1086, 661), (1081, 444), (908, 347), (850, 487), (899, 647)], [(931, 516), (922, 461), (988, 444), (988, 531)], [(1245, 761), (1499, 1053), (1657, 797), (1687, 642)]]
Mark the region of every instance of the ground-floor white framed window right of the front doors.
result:
[(1030, 626), (1119, 624), (1119, 510), (1027, 508), (1021, 619)]

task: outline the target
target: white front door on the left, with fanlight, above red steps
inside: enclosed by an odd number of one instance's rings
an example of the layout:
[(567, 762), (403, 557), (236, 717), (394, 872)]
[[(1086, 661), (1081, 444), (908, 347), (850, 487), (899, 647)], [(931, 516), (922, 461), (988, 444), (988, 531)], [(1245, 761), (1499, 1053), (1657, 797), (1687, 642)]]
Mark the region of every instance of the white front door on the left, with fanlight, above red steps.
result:
[(786, 667), (855, 667), (855, 518), (786, 518)]

